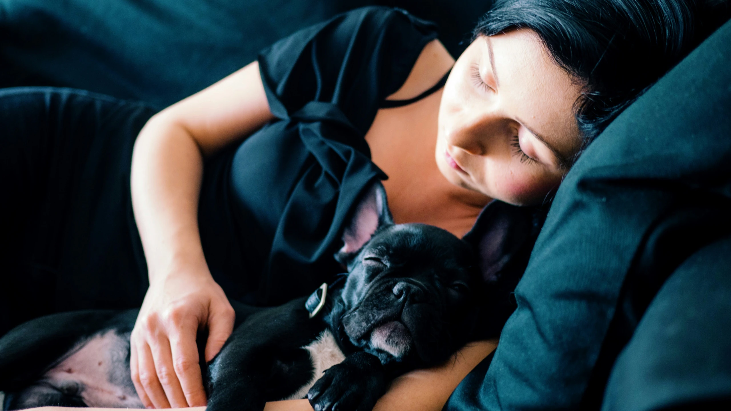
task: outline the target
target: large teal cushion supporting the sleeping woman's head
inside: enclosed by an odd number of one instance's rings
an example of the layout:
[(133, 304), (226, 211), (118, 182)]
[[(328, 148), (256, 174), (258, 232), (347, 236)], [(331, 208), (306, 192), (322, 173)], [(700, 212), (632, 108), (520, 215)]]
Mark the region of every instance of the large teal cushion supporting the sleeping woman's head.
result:
[(726, 23), (577, 161), (488, 371), (458, 387), (448, 410), (600, 407), (616, 356), (664, 280), (731, 232), (730, 44)]

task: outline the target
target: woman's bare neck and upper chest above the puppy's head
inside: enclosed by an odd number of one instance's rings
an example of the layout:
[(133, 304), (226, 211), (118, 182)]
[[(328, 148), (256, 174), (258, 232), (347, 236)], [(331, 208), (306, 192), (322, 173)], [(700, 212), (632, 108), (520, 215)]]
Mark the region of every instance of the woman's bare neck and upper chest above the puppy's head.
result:
[(452, 185), (436, 166), (442, 91), (414, 104), (379, 110), (366, 141), (389, 179), (384, 182), (396, 223), (426, 223), (462, 237), (491, 199)]

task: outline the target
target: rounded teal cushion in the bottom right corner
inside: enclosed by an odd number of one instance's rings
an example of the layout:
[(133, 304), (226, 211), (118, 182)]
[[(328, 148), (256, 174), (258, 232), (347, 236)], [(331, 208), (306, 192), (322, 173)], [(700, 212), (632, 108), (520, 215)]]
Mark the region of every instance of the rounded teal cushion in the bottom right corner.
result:
[(617, 358), (603, 411), (731, 409), (729, 267), (726, 237), (667, 279)]

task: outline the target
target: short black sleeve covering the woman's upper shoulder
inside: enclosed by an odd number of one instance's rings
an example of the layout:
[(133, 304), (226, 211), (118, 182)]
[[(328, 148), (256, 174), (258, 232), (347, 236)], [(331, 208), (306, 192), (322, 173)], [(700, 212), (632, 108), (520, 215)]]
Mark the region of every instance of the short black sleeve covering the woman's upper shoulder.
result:
[[(380, 101), (404, 85), (437, 35), (433, 23), (377, 6), (298, 31), (259, 55), (270, 110), (289, 118), (312, 101), (335, 104), (365, 134)], [(409, 90), (433, 80), (414, 78)]]

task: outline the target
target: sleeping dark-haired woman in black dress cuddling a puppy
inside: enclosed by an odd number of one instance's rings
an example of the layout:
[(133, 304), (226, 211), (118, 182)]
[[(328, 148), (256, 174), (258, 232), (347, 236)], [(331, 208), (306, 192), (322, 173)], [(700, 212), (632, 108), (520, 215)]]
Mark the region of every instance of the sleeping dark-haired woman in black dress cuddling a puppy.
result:
[[(387, 178), (396, 223), (460, 237), (491, 201), (545, 204), (724, 4), (499, 0), (457, 61), (431, 23), (356, 9), (157, 113), (0, 91), (0, 335), (51, 312), (141, 304), (130, 366), (143, 404), (205, 405), (197, 331), (210, 360), (232, 332), (229, 299), (281, 304), (331, 280), (370, 183)], [(406, 374), (378, 407), (441, 409), (493, 347)]]

